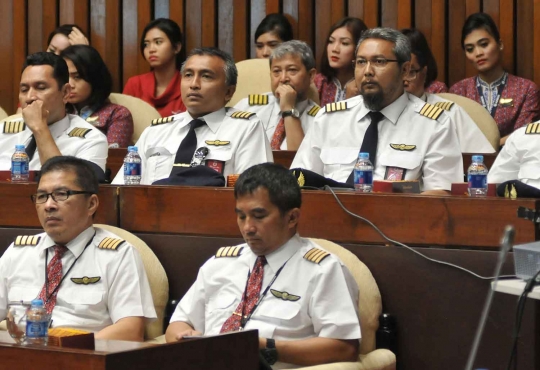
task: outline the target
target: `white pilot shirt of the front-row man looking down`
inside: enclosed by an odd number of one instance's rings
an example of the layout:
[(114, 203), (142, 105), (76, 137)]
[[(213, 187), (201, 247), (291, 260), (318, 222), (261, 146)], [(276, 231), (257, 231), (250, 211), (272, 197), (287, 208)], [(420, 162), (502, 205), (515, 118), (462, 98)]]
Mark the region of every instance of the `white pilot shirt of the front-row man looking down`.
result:
[[(316, 248), (317, 259), (308, 252)], [(293, 236), (278, 250), (267, 254), (261, 294), (277, 271), (245, 330), (258, 329), (259, 337), (301, 340), (313, 337), (360, 339), (358, 285), (349, 270), (333, 254), (323, 253), (313, 241)], [(255, 255), (247, 244), (221, 248), (199, 270), (171, 317), (186, 322), (204, 335), (217, 335), (237, 308), (246, 288)], [(273, 369), (296, 368), (277, 362)]]

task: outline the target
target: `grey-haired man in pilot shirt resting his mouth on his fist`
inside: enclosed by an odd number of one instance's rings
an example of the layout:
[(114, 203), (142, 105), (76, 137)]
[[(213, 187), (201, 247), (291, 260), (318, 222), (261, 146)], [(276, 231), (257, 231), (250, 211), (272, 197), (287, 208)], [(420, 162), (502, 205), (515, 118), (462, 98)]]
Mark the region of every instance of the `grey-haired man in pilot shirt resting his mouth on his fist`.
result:
[(272, 150), (297, 150), (320, 107), (308, 99), (315, 78), (315, 58), (298, 40), (284, 42), (270, 55), (272, 91), (250, 95), (235, 108), (260, 118)]

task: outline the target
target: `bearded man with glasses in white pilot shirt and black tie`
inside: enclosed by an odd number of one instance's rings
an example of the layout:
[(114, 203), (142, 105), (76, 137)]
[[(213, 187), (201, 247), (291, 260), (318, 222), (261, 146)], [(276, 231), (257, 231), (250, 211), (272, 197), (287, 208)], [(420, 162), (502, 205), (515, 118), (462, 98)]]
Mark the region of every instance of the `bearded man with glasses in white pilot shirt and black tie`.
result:
[(362, 34), (356, 48), (360, 95), (326, 105), (291, 168), (352, 184), (359, 152), (369, 153), (374, 180), (420, 180), (423, 194), (447, 194), (463, 181), (459, 142), (442, 109), (405, 92), (411, 47), (390, 28)]

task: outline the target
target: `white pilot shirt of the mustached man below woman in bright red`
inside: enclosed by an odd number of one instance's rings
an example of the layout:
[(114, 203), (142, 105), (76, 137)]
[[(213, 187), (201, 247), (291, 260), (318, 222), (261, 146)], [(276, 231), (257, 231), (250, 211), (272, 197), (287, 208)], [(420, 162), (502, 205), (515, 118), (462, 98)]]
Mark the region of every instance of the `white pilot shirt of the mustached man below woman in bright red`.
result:
[[(270, 143), (255, 114), (222, 108), (200, 119), (206, 125), (195, 129), (197, 148), (208, 148), (206, 165), (221, 172), (225, 178), (240, 174), (255, 164), (273, 162)], [(143, 131), (135, 144), (141, 156), (141, 184), (150, 185), (169, 177), (176, 152), (189, 132), (192, 120), (186, 111), (154, 120), (152, 126)], [(122, 170), (112, 183), (124, 183)]]

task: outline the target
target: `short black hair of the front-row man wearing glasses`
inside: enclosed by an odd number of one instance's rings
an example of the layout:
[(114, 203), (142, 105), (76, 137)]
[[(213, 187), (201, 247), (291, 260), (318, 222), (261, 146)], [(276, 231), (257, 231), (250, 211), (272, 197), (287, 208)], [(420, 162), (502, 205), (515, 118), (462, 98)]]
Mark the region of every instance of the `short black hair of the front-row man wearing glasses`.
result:
[(73, 156), (56, 156), (49, 158), (41, 167), (41, 178), (49, 172), (73, 172), (77, 185), (83, 191), (94, 194), (99, 192), (99, 183), (93, 165), (85, 159)]

